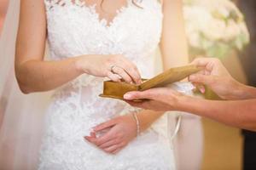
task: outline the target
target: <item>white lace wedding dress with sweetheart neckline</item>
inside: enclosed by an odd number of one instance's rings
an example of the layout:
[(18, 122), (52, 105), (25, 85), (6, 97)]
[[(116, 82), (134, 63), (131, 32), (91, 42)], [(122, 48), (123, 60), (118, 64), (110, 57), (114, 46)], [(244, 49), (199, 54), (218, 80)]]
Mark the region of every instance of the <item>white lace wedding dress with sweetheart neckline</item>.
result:
[[(154, 76), (154, 52), (160, 42), (163, 14), (158, 0), (143, 8), (128, 0), (108, 26), (94, 6), (78, 0), (44, 0), (51, 59), (82, 54), (124, 54), (143, 77)], [(65, 75), (63, 75), (65, 76)], [(83, 75), (55, 90), (47, 113), (39, 169), (175, 169), (170, 140), (150, 127), (117, 155), (84, 140), (91, 127), (136, 111), (123, 101), (102, 99), (103, 78)], [(165, 121), (164, 121), (165, 122)], [(162, 125), (164, 126), (165, 123)]]

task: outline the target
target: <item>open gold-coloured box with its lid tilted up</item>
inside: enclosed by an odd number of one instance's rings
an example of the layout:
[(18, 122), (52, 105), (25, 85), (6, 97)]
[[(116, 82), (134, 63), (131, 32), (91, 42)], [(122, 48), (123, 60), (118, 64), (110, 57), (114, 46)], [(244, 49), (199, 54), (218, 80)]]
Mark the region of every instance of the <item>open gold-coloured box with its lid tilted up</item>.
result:
[(143, 83), (140, 85), (129, 84), (127, 82), (106, 81), (104, 82), (103, 94), (100, 94), (100, 96), (103, 98), (123, 99), (124, 94), (127, 92), (144, 91), (149, 88), (165, 87), (172, 82), (181, 81), (198, 71), (201, 71), (201, 68), (195, 65), (185, 65), (171, 68), (151, 79), (143, 79)]

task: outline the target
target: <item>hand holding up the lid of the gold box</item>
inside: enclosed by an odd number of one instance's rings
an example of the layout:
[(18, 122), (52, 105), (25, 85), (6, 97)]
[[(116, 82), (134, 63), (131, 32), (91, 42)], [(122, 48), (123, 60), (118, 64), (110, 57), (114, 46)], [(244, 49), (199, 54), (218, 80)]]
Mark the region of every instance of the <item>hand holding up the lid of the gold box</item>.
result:
[(190, 82), (207, 85), (222, 99), (241, 99), (244, 85), (230, 76), (219, 59), (198, 58), (192, 64), (203, 67), (204, 70), (189, 76)]

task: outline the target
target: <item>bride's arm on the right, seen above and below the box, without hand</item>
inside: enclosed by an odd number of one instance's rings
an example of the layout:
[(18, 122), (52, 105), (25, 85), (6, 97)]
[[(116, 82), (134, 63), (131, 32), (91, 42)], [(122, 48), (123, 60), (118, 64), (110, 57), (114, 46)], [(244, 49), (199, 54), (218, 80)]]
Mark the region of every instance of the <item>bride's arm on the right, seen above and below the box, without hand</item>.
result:
[[(181, 1), (164, 1), (164, 20), (160, 40), (160, 52), (162, 54), (163, 69), (165, 71), (171, 67), (189, 63), (182, 11)], [(138, 114), (142, 130), (147, 129), (164, 113), (164, 111), (142, 111)]]

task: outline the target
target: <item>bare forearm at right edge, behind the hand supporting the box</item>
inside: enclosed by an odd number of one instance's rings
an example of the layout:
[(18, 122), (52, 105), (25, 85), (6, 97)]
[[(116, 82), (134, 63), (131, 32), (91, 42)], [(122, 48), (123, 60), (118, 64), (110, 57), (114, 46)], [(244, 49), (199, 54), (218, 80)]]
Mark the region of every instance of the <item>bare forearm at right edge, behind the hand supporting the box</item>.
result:
[(256, 99), (218, 101), (182, 97), (177, 109), (205, 116), (232, 127), (256, 131)]

